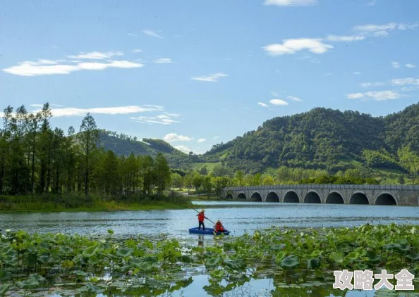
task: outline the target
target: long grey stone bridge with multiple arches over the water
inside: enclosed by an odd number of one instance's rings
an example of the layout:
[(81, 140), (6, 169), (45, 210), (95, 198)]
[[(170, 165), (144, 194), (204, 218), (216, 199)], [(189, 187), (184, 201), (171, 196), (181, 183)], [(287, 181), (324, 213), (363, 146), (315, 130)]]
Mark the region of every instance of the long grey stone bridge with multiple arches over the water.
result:
[(285, 203), (346, 203), (418, 206), (419, 186), (289, 184), (227, 187), (221, 198)]

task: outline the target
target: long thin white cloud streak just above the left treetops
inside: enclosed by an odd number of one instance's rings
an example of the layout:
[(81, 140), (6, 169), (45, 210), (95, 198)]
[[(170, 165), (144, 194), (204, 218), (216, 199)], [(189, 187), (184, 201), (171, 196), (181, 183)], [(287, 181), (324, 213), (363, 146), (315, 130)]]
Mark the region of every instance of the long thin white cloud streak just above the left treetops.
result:
[[(34, 105), (35, 106), (35, 105)], [(36, 106), (41, 107), (41, 106)], [(163, 110), (163, 106), (116, 106), (116, 107), (98, 107), (98, 108), (51, 108), (51, 113), (54, 117), (69, 117), (69, 116), (84, 116), (87, 113), (102, 114), (102, 115), (126, 115), (129, 113), (145, 113), (151, 111)], [(40, 109), (33, 110), (32, 113), (37, 113)]]

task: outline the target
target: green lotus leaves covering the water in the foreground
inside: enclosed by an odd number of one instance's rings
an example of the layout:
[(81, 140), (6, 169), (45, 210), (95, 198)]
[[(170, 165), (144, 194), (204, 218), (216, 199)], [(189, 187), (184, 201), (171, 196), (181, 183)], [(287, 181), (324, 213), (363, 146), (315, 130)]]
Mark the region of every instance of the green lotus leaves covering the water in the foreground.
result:
[(195, 274), (207, 275), (209, 283), (203, 289), (212, 296), (264, 278), (273, 279), (272, 292), (332, 291), (334, 270), (419, 273), (418, 229), (412, 225), (272, 227), (220, 236), (205, 248), (167, 238), (121, 240), (112, 230), (108, 233), (99, 239), (23, 231), (0, 234), (0, 296), (158, 296), (186, 288)]

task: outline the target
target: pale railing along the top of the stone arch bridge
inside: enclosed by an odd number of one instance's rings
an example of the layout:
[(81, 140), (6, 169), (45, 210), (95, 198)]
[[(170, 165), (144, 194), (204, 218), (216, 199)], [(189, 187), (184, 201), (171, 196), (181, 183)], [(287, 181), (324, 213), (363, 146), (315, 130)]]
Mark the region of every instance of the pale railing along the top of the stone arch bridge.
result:
[(224, 191), (257, 191), (276, 189), (342, 189), (342, 190), (378, 190), (378, 191), (419, 191), (419, 186), (399, 184), (276, 184), (272, 186), (226, 187)]

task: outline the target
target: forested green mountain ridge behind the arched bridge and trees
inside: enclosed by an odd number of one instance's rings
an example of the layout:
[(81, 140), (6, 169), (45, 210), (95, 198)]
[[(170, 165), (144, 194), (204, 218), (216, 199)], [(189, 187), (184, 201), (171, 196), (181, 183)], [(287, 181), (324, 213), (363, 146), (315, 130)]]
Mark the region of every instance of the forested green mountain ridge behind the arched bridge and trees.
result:
[(358, 111), (313, 108), (306, 113), (272, 118), (255, 131), (196, 156), (158, 139), (130, 139), (101, 132), (102, 145), (119, 155), (164, 153), (175, 168), (196, 163), (221, 163), (233, 170), (262, 172), (281, 165), (331, 172), (365, 167), (401, 170), (397, 151), (419, 151), (419, 104), (399, 113), (372, 117)]

